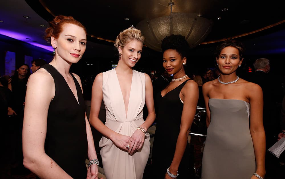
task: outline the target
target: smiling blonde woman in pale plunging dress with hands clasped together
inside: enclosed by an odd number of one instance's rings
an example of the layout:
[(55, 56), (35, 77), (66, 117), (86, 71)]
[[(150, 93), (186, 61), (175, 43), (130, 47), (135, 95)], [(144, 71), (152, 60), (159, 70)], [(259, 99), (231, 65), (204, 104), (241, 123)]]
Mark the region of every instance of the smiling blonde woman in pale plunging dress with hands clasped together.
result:
[[(134, 27), (120, 32), (114, 43), (119, 52), (117, 67), (98, 74), (93, 83), (89, 120), (103, 135), (99, 147), (107, 179), (142, 179), (150, 153), (146, 131), (155, 119), (152, 84), (147, 74), (133, 70), (143, 41), (141, 31)], [(102, 99), (105, 125), (98, 118)]]

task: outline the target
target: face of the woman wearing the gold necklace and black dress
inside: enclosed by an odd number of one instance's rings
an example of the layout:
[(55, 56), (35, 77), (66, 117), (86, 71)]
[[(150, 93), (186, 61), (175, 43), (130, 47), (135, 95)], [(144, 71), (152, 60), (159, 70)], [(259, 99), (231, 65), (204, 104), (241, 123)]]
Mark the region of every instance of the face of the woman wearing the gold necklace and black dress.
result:
[(184, 70), (183, 63), (186, 63), (186, 57), (177, 53), (176, 50), (168, 49), (163, 53), (163, 67), (168, 74), (176, 74)]

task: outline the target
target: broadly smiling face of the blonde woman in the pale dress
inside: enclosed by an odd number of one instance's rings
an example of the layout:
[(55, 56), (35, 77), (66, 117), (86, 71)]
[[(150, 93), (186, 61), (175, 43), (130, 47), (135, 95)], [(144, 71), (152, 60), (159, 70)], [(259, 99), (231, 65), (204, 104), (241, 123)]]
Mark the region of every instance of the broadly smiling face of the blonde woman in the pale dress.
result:
[(137, 40), (131, 40), (125, 47), (119, 46), (119, 53), (121, 53), (120, 61), (127, 64), (129, 67), (134, 67), (141, 58), (143, 43)]

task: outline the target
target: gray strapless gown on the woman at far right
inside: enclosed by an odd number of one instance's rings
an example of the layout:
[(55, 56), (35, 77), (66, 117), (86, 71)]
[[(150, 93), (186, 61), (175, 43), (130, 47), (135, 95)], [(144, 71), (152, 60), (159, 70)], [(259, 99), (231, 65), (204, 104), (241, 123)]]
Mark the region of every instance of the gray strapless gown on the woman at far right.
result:
[(209, 99), (211, 122), (202, 159), (202, 179), (249, 179), (256, 169), (249, 131), (250, 104)]

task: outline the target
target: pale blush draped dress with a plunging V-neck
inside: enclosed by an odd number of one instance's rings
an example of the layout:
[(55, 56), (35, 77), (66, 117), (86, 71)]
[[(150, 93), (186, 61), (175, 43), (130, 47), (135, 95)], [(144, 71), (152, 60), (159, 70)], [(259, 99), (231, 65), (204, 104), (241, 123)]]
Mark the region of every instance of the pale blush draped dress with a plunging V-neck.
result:
[[(117, 78), (116, 70), (103, 72), (103, 101), (106, 108), (105, 125), (111, 130), (126, 136), (132, 136), (137, 127), (143, 124), (143, 107), (145, 103), (144, 73), (133, 70), (133, 78), (126, 116), (123, 94)], [(134, 155), (119, 149), (110, 139), (102, 137), (103, 169), (107, 179), (142, 179), (149, 153), (149, 134), (143, 147)]]

